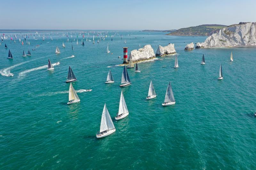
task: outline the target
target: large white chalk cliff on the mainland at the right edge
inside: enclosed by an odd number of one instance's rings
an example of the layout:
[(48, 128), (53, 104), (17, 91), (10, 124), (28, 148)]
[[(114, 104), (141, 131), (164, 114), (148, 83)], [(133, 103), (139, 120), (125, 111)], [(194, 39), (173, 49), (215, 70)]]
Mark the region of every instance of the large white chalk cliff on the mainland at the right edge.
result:
[(209, 36), (203, 43), (197, 43), (196, 48), (256, 46), (256, 23), (240, 22), (222, 28), (219, 33)]

